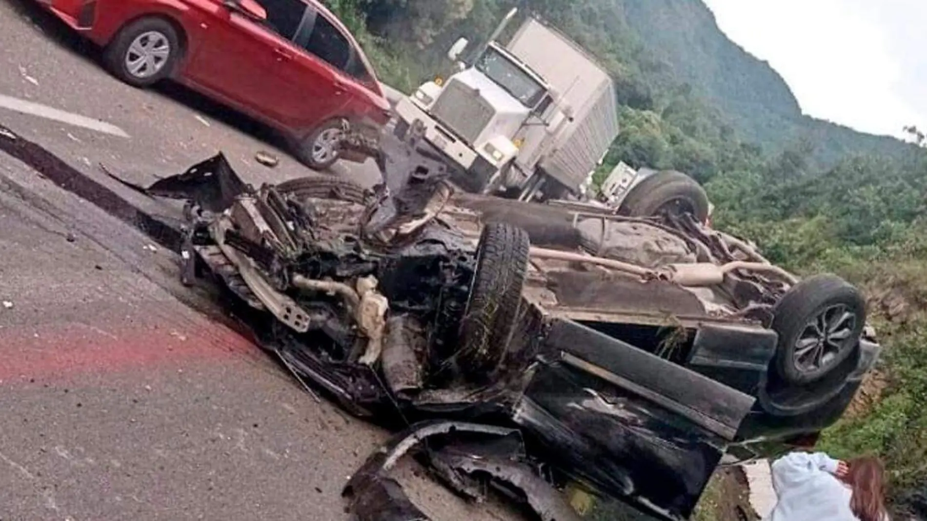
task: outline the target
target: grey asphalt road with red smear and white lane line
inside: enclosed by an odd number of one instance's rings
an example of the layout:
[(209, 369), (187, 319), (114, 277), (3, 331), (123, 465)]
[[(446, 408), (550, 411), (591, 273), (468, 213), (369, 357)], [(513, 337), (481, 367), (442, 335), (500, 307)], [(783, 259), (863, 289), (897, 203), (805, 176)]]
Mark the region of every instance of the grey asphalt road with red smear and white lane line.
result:
[[(128, 137), (5, 108), (0, 124), (126, 198), (100, 163), (139, 183), (218, 151), (254, 184), (307, 173), (252, 121), (110, 78), (25, 0), (0, 0), (0, 49), (0, 96)], [(279, 166), (258, 165), (259, 150)], [(171, 252), (2, 152), (0, 222), (0, 520), (348, 518), (340, 488), (386, 433), (312, 400), (208, 294), (179, 285)], [(403, 483), (435, 519), (513, 516), (418, 474), (407, 466)]]

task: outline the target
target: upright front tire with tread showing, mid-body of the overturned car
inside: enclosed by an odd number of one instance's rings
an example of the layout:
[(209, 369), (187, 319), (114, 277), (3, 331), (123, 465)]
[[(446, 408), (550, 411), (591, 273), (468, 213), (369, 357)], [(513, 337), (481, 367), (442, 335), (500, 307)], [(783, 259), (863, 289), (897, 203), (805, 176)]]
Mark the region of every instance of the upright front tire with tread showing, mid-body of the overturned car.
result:
[(527, 274), (527, 233), (504, 222), (483, 228), (476, 247), (476, 270), (470, 286), (457, 362), (465, 373), (487, 376), (512, 336)]

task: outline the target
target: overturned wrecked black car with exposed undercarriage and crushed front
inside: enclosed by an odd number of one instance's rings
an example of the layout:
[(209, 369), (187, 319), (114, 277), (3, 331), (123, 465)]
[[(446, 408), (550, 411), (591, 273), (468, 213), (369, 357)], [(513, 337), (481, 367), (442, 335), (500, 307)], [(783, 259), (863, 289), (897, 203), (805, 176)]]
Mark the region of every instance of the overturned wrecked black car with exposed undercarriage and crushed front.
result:
[(406, 426), (345, 489), (362, 521), (426, 519), (406, 452), (470, 500), (545, 520), (578, 483), (686, 519), (719, 464), (818, 432), (879, 346), (852, 286), (799, 281), (685, 214), (618, 217), (455, 194), (420, 129), (383, 183), (250, 187), (222, 155), (146, 188), (187, 201), (184, 281), (219, 281), (264, 349), (349, 412)]

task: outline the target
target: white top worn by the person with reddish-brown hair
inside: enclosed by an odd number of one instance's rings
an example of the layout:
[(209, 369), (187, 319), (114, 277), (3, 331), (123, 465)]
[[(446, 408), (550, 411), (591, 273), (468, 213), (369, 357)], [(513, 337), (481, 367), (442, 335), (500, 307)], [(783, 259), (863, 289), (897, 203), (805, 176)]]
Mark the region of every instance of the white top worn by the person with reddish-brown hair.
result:
[(852, 490), (834, 476), (838, 463), (823, 452), (792, 452), (773, 462), (778, 502), (764, 521), (858, 521)]

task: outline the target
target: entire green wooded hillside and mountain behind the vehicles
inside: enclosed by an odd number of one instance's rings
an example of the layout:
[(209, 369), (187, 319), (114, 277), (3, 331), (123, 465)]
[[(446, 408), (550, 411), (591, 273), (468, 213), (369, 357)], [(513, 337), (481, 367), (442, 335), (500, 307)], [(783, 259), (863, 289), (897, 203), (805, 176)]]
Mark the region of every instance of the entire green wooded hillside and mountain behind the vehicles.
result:
[[(459, 36), (485, 38), (513, 0), (328, 0), (407, 91), (450, 65)], [(799, 273), (864, 287), (880, 330), (881, 397), (822, 447), (883, 454), (896, 496), (927, 478), (927, 153), (800, 112), (768, 65), (717, 29), (700, 0), (522, 0), (616, 79), (622, 133), (606, 167), (675, 168), (705, 184), (717, 226)], [(513, 25), (517, 24), (514, 23)], [(917, 135), (916, 131), (912, 133)], [(922, 135), (921, 135), (922, 137)], [(874, 392), (874, 391), (873, 391)]]

